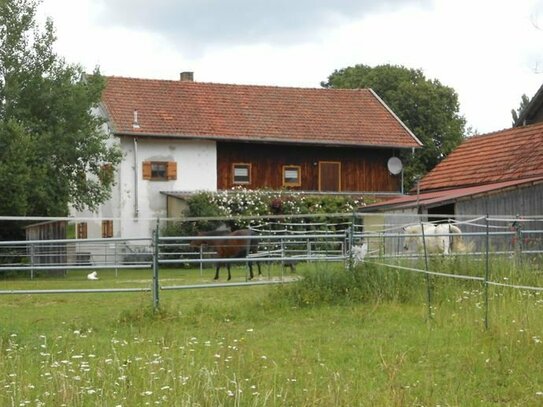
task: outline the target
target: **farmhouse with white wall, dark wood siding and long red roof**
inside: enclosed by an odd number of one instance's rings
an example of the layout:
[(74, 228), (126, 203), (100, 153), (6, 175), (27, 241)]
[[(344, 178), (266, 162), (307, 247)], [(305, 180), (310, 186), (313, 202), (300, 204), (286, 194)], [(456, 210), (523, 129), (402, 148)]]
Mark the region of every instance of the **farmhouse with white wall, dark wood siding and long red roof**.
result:
[[(391, 157), (420, 141), (370, 89), (109, 77), (99, 114), (124, 159), (101, 225), (79, 237), (148, 236), (194, 191), (401, 192)], [(109, 219), (109, 220), (108, 220)]]

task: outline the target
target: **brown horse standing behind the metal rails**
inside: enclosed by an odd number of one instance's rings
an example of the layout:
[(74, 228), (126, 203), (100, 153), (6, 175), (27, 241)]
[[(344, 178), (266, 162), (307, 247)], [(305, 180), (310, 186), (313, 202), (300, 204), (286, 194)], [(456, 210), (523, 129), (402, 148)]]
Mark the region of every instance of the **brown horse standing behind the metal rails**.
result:
[[(239, 229), (234, 232), (229, 230), (212, 230), (211, 232), (199, 232), (198, 237), (203, 236), (240, 236), (240, 239), (197, 239), (190, 242), (191, 247), (201, 247), (208, 246), (213, 248), (220, 259), (232, 259), (247, 257), (249, 253), (256, 253), (258, 251), (258, 239), (256, 238), (247, 238), (246, 236), (255, 236), (255, 233), (249, 229)], [(247, 262), (249, 265), (249, 279), (254, 277), (253, 275), (253, 264), (252, 262)], [(256, 263), (258, 267), (258, 275), (261, 275), (260, 264)], [(219, 269), (221, 268), (221, 262), (217, 262), (217, 268), (215, 271), (215, 280), (219, 278)], [(226, 269), (228, 270), (228, 280), (232, 278), (230, 274), (230, 263), (226, 262)]]

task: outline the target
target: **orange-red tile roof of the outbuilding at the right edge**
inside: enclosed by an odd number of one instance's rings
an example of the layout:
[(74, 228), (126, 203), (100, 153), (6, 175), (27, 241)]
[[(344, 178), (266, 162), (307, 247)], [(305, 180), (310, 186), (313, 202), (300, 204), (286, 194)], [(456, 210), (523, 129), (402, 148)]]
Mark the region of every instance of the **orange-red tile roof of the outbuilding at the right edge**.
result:
[(543, 176), (543, 124), (466, 139), (420, 182), (421, 191)]

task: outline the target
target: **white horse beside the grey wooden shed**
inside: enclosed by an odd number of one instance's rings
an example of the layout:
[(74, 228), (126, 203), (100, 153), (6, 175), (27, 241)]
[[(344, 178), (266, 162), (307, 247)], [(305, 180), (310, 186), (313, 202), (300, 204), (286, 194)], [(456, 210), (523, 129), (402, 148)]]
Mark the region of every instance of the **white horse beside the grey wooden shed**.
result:
[[(424, 242), (422, 241), (422, 231), (424, 228)], [(426, 244), (428, 253), (450, 254), (452, 252), (462, 253), (468, 250), (462, 239), (462, 231), (458, 226), (451, 223), (423, 223), (418, 225), (406, 226), (403, 228), (406, 235), (404, 250), (416, 247), (421, 252)]]

